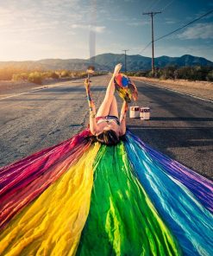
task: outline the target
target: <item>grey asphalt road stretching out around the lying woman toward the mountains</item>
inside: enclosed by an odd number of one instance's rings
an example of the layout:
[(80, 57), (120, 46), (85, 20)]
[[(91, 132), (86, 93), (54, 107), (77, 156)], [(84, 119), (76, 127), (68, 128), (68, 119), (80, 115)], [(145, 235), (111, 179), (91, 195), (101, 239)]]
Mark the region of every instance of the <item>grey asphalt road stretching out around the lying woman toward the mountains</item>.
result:
[[(97, 107), (110, 76), (91, 79)], [(198, 173), (213, 177), (213, 104), (135, 81), (138, 106), (151, 119), (128, 118), (145, 143)], [(14, 162), (84, 129), (88, 107), (83, 80), (66, 81), (35, 92), (0, 99), (0, 166)], [(121, 106), (121, 99), (119, 106)]]

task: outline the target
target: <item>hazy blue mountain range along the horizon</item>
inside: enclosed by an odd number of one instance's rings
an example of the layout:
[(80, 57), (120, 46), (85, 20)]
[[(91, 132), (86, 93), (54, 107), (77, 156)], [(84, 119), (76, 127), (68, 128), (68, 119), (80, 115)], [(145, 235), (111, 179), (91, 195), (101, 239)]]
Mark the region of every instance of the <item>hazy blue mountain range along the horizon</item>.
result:
[[(115, 65), (122, 62), (124, 67), (124, 54), (98, 54), (91, 59), (45, 59), (40, 61), (0, 61), (0, 68), (13, 67), (26, 70), (86, 70), (89, 65), (94, 65), (96, 70), (111, 71)], [(166, 66), (210, 66), (213, 62), (202, 57), (185, 54), (181, 57), (160, 56), (154, 59), (155, 67)], [(139, 54), (127, 55), (127, 70), (149, 70), (151, 69), (152, 59)]]

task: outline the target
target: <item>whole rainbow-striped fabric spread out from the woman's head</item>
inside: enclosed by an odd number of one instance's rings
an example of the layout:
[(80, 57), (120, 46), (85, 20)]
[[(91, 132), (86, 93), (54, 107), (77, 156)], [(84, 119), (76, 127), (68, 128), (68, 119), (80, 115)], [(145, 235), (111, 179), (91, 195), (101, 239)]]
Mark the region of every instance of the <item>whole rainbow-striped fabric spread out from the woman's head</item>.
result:
[(213, 255), (210, 180), (89, 130), (0, 170), (0, 255)]

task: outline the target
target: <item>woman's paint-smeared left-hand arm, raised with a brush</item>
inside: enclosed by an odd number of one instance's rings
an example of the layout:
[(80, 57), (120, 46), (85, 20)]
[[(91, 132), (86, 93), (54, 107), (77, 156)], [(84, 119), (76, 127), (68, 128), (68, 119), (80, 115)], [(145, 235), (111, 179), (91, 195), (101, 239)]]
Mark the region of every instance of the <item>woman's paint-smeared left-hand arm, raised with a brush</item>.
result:
[(90, 81), (85, 80), (86, 97), (90, 109), (90, 130), (93, 135), (97, 132), (97, 121), (96, 121), (96, 106), (91, 99)]

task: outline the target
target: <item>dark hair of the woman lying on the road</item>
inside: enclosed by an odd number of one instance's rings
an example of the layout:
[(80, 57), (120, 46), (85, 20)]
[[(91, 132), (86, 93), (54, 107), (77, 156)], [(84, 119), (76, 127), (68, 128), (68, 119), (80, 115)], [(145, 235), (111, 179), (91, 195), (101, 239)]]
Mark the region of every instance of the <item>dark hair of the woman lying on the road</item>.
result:
[(103, 131), (102, 133), (98, 134), (97, 136), (91, 136), (90, 140), (91, 142), (99, 142), (101, 144), (106, 144), (109, 146), (114, 146), (118, 144), (122, 139), (124, 139), (125, 136), (118, 137), (116, 135), (116, 131), (113, 130), (108, 130), (108, 131)]

